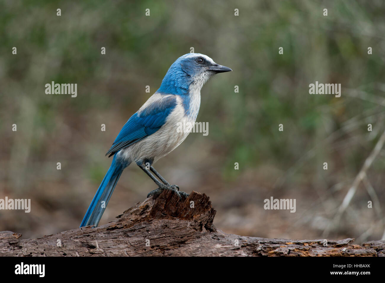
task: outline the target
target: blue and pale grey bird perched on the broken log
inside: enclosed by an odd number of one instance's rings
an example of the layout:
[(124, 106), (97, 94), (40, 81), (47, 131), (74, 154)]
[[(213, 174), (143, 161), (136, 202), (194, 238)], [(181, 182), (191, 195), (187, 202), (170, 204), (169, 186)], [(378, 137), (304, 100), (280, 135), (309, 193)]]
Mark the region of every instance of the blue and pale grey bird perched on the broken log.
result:
[[(113, 156), (111, 166), (97, 189), (80, 227), (97, 227), (124, 168), (136, 163), (158, 186), (147, 197), (162, 190), (181, 195), (152, 166), (167, 155), (191, 132), (201, 104), (201, 88), (217, 73), (232, 71), (207, 55), (187, 53), (167, 70), (159, 89), (132, 115), (105, 155)], [(177, 130), (177, 126), (186, 126)], [(157, 178), (159, 180), (157, 180)]]

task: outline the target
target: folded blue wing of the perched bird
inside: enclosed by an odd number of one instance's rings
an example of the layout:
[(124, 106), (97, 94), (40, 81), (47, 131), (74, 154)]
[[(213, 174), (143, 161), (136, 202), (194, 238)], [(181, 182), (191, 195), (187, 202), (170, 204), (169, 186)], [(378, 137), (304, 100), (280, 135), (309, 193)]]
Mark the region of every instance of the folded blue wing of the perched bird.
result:
[(136, 112), (123, 126), (114, 143), (105, 155), (114, 155), (117, 151), (130, 146), (159, 130), (171, 111), (176, 107), (175, 95), (161, 95), (161, 97), (141, 112)]

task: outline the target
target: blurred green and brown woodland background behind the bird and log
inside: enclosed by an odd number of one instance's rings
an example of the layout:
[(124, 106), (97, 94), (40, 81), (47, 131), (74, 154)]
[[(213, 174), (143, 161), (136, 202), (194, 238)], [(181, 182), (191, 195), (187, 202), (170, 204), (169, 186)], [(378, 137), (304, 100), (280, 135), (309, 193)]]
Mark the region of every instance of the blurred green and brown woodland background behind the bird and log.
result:
[[(157, 170), (187, 193), (210, 196), (214, 225), (227, 233), (381, 239), (384, 150), (335, 219), (385, 129), (384, 20), (382, 0), (3, 0), (0, 198), (30, 198), (32, 207), (0, 211), (0, 231), (32, 238), (77, 228), (109, 168), (104, 155), (119, 130), (169, 66), (194, 47), (233, 72), (201, 91), (197, 122), (209, 123), (209, 135), (191, 133)], [(51, 81), (77, 83), (77, 97), (45, 94)], [(341, 83), (341, 97), (310, 95), (315, 81)], [(100, 225), (154, 188), (129, 166)], [(264, 210), (270, 196), (295, 198), (296, 212)]]

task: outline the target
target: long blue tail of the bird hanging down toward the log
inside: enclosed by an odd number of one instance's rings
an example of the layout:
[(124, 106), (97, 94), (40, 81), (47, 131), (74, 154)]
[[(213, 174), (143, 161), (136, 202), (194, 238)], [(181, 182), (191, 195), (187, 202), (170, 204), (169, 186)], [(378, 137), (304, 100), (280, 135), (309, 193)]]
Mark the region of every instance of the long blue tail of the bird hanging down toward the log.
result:
[(116, 156), (117, 155), (115, 154), (114, 159), (112, 160), (112, 164), (107, 171), (107, 174), (105, 174), (102, 183), (97, 189), (96, 194), (84, 215), (80, 227), (88, 225), (94, 225), (97, 227), (100, 218), (102, 218), (107, 203), (110, 200), (112, 193), (114, 192), (114, 188), (122, 174), (122, 171), (129, 165), (129, 163), (122, 163), (118, 161)]

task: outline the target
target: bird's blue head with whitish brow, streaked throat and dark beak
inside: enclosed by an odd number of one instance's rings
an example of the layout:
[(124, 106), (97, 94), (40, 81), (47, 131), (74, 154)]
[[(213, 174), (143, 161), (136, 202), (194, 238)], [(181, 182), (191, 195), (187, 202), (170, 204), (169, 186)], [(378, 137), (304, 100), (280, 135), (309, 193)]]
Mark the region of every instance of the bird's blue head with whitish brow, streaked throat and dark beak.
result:
[(216, 73), (232, 71), (200, 53), (187, 53), (172, 63), (158, 92), (185, 94), (191, 84), (199, 90)]

